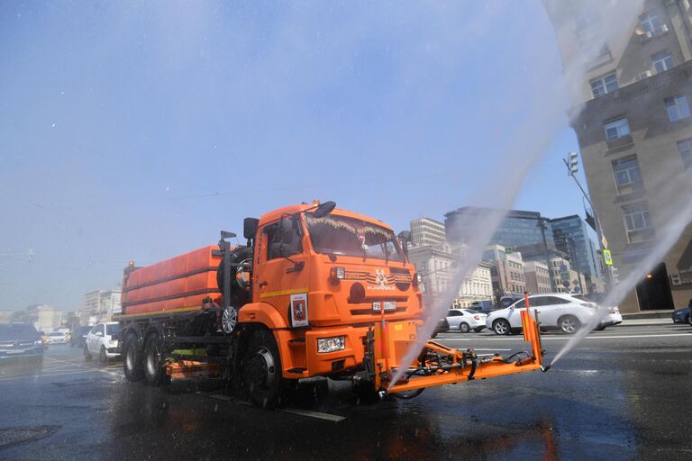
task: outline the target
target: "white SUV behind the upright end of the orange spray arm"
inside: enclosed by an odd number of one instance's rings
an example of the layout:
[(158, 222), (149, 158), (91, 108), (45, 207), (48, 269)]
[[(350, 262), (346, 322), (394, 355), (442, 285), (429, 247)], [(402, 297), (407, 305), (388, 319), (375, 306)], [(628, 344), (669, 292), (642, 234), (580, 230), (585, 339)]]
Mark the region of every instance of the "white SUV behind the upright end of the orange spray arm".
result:
[[(582, 325), (594, 319), (597, 305), (585, 299), (579, 299), (570, 294), (533, 294), (529, 296), (529, 305), (536, 308), (541, 330), (561, 330), (564, 333), (574, 333)], [(526, 309), (524, 300), (519, 300), (511, 306), (490, 312), (486, 318), (487, 328), (497, 335), (508, 335), (522, 330), (521, 312)], [(618, 312), (619, 315), (619, 312)], [(620, 317), (622, 321), (622, 317)], [(602, 319), (598, 328), (605, 328), (607, 320)]]

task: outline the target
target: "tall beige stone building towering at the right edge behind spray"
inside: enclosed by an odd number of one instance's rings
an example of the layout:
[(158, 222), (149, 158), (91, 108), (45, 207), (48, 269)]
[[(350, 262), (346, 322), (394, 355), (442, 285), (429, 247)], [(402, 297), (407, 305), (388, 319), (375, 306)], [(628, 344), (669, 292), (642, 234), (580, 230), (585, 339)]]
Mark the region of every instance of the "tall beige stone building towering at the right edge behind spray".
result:
[[(664, 178), (692, 171), (690, 2), (646, 0), (624, 43), (595, 39), (604, 30), (597, 8), (560, 0), (544, 4), (565, 68), (587, 61), (570, 123), (591, 202), (622, 280), (645, 264), (657, 232), (670, 220), (667, 208), (677, 194), (657, 194), (666, 185)], [(605, 29), (611, 26), (607, 23)], [(600, 50), (597, 56), (587, 52), (594, 46)], [(692, 229), (687, 226), (660, 264), (620, 304), (622, 312), (687, 305), (691, 269)]]

